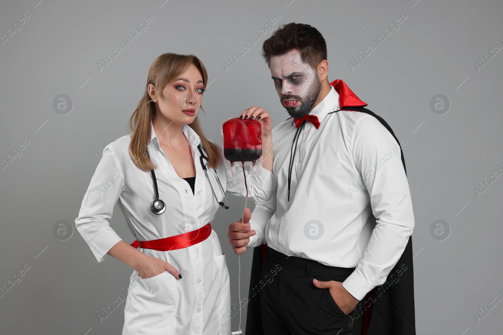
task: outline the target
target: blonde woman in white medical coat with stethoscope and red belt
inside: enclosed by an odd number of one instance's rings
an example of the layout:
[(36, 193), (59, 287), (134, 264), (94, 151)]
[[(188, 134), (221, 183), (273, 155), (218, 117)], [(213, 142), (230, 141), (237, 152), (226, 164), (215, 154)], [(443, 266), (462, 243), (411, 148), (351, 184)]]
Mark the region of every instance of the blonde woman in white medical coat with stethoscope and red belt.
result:
[[(226, 178), (221, 148), (199, 124), (207, 78), (194, 55), (157, 57), (129, 120), (132, 134), (105, 147), (75, 219), (99, 262), (111, 255), (134, 269), (124, 335), (230, 333), (229, 274), (209, 222), (219, 202), (225, 206), (225, 190), (246, 191), (239, 174)], [(272, 146), (267, 111), (252, 106), (241, 117), (261, 119), (263, 145)], [(272, 170), (272, 155), (263, 167), (264, 173)], [(262, 185), (246, 179), (249, 196), (260, 197)], [(220, 186), (220, 180), (226, 183)], [(116, 202), (137, 238), (132, 245), (108, 224)]]

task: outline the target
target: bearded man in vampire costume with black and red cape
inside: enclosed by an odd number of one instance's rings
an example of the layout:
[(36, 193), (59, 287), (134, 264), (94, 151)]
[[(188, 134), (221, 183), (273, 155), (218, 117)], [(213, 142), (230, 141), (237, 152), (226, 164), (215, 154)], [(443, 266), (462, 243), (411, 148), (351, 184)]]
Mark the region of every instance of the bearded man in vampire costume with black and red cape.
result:
[(414, 334), (414, 216), (400, 143), (342, 80), (328, 82), (315, 28), (281, 27), (263, 57), (292, 118), (272, 131), (272, 173), (255, 177), (270, 200), (229, 226), (236, 254), (262, 245), (246, 334)]

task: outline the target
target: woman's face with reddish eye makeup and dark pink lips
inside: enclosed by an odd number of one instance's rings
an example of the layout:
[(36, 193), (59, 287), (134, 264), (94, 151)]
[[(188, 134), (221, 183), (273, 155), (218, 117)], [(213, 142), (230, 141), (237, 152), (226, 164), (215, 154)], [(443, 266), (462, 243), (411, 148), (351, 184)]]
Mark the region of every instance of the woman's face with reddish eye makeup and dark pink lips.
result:
[[(148, 85), (150, 97), (153, 96), (155, 87)], [(203, 99), (203, 77), (198, 68), (191, 66), (175, 81), (167, 83), (157, 98), (155, 111), (168, 122), (177, 124), (191, 124), (197, 116)]]

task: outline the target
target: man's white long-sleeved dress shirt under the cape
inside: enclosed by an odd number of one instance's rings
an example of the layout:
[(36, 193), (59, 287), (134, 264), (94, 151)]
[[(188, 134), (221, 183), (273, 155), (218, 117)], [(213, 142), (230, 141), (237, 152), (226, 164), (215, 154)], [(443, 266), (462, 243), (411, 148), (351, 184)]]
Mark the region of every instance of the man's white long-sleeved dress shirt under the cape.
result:
[[(262, 169), (268, 201), (256, 203), (248, 247), (265, 242), (285, 255), (356, 268), (343, 286), (358, 300), (385, 282), (414, 227), (400, 149), (373, 116), (340, 110), (331, 87), (298, 139), (288, 201), (288, 165), (296, 132), (293, 119), (273, 129), (273, 173)], [(292, 126), (293, 125), (293, 126)]]

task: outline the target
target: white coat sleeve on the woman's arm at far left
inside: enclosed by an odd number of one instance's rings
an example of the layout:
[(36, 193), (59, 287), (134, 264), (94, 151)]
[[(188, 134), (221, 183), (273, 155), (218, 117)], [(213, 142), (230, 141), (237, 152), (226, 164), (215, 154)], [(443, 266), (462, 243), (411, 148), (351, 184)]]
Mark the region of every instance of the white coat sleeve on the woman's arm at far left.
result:
[(91, 178), (88, 190), (75, 219), (75, 227), (89, 245), (98, 262), (122, 239), (110, 227), (114, 205), (124, 187), (124, 175), (112, 144), (103, 150), (103, 156)]

